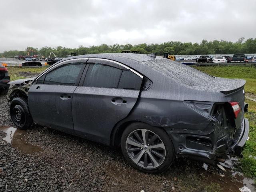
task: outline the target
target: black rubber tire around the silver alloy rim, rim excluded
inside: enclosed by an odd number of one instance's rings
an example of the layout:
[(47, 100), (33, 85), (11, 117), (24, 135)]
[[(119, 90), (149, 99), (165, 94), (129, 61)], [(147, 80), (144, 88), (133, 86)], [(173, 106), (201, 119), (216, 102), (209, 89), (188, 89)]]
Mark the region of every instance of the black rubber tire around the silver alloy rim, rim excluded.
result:
[[(150, 132), (153, 132), (162, 140), (162, 143), (165, 146), (165, 158), (162, 161), (162, 163), (156, 168), (148, 169), (148, 168), (139, 166), (130, 158), (130, 156), (126, 150), (126, 146), (127, 146), (126, 140), (127, 140), (128, 136), (135, 130), (139, 130), (139, 129), (146, 129), (146, 130), (149, 130)], [(161, 128), (153, 127), (148, 124), (144, 124), (144, 123), (140, 123), (140, 122), (130, 124), (124, 130), (122, 137), (121, 137), (121, 149), (122, 149), (122, 153), (123, 153), (124, 157), (130, 163), (131, 166), (133, 166), (137, 170), (140, 170), (145, 173), (151, 173), (151, 174), (157, 174), (157, 173), (166, 171), (172, 164), (174, 157), (175, 157), (175, 151), (174, 151), (174, 147), (172, 144), (172, 140), (170, 139), (168, 134), (166, 134), (166, 132), (164, 130), (162, 130)], [(145, 154), (143, 154), (143, 155), (145, 155)]]

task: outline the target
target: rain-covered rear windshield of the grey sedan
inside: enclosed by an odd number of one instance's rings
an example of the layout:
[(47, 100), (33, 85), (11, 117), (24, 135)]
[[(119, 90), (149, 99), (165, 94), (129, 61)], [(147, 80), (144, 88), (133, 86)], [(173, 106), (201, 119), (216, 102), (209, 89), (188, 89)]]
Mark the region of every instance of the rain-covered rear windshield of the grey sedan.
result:
[(215, 79), (195, 68), (168, 59), (156, 59), (143, 63), (184, 86), (198, 86)]

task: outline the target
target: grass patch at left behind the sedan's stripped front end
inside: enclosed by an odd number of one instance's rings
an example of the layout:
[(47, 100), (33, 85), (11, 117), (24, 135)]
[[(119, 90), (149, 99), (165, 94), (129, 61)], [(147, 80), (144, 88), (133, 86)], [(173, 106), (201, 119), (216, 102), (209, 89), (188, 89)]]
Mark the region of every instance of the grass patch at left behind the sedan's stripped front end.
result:
[(11, 81), (17, 80), (17, 79), (24, 79), (31, 76), (37, 76), (42, 71), (46, 70), (46, 67), (34, 67), (34, 68), (28, 68), (28, 67), (8, 67), (8, 73), (10, 76)]

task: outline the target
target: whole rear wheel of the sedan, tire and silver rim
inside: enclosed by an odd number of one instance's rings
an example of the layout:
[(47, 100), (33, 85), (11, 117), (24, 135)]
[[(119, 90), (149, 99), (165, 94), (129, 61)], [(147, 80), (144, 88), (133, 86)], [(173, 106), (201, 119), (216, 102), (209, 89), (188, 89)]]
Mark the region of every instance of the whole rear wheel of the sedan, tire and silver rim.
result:
[(136, 169), (146, 173), (160, 173), (172, 164), (174, 148), (170, 137), (161, 128), (134, 123), (124, 130), (122, 153)]

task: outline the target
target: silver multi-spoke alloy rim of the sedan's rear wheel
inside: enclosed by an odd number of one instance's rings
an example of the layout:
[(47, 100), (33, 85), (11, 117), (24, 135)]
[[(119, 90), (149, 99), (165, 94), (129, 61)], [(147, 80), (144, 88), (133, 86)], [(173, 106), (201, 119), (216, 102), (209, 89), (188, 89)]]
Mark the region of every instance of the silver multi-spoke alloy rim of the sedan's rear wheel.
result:
[(129, 134), (126, 139), (126, 151), (136, 165), (145, 169), (157, 168), (166, 156), (160, 137), (147, 129), (137, 129)]

